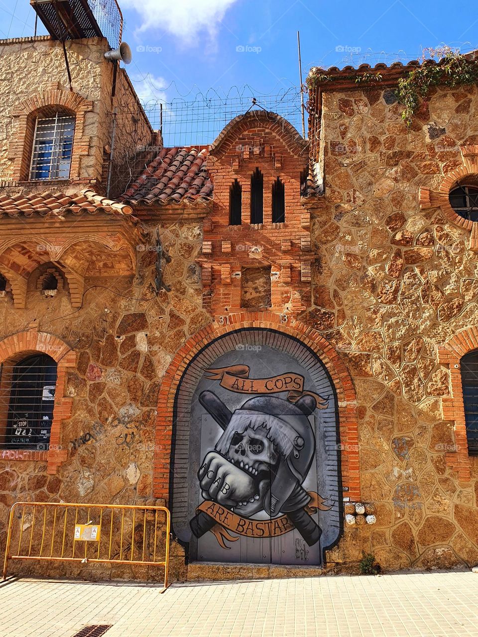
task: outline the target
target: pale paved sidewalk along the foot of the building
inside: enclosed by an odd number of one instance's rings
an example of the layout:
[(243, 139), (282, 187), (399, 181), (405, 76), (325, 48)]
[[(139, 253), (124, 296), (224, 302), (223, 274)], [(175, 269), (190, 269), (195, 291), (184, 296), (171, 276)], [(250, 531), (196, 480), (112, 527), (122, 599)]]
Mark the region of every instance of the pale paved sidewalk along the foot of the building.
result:
[(478, 637), (478, 575), (413, 573), (254, 582), (0, 585), (0, 635), (72, 637)]

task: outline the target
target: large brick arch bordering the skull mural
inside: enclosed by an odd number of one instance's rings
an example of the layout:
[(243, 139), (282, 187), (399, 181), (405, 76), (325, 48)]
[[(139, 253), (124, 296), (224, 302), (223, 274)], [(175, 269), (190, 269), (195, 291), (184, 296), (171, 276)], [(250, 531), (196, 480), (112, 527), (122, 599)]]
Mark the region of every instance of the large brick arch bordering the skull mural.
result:
[(342, 446), (342, 485), (349, 487), (347, 496), (360, 499), (357, 399), (352, 378), (337, 351), (317, 331), (299, 321), (288, 326), (280, 316), (272, 312), (241, 312), (229, 315), (228, 324), (211, 323), (191, 336), (177, 352), (166, 373), (159, 391), (156, 441), (154, 453), (154, 496), (169, 497), (171, 437), (173, 435), (173, 410), (175, 396), (182, 376), (194, 357), (219, 336), (244, 327), (274, 329), (297, 338), (321, 359), (328, 370), (337, 391), (340, 444)]

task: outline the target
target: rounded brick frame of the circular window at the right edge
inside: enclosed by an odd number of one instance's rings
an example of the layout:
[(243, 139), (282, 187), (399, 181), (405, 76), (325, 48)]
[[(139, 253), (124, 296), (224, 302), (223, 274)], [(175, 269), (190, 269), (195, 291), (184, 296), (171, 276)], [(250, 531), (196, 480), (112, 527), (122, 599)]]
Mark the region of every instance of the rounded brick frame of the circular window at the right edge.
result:
[(478, 180), (478, 145), (461, 146), (461, 161), (463, 166), (455, 168), (444, 176), (438, 190), (421, 188), (419, 191), (419, 203), (421, 210), (428, 208), (440, 208), (445, 217), (453, 224), (470, 231), (470, 250), (478, 251), (478, 224), (458, 215), (451, 207), (449, 201), (450, 190), (459, 183), (467, 183), (467, 178), (475, 183)]

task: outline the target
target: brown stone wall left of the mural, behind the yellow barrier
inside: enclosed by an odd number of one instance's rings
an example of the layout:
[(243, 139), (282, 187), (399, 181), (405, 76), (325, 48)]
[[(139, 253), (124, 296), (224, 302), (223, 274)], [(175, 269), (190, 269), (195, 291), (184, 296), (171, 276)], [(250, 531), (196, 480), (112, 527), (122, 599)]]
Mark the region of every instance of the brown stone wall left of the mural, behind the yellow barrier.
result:
[[(8, 508), (14, 501), (164, 503), (152, 498), (158, 389), (178, 347), (210, 318), (201, 308), (200, 273), (194, 264), (199, 225), (173, 224), (160, 232), (172, 259), (164, 275), (171, 286), (169, 294), (154, 292), (154, 233), (151, 243), (137, 246), (136, 276), (87, 279), (79, 310), (71, 308), (68, 286), (47, 298), (32, 282), (25, 310), (13, 309), (10, 294), (0, 299), (0, 338), (29, 329), (36, 317), (34, 330), (55, 334), (77, 355), (65, 390), (65, 396), (73, 399), (72, 413), (62, 423), (59, 441), (68, 458), (57, 473), (48, 475), (47, 463), (41, 459), (15, 460), (15, 452), (0, 452), (2, 554)], [(173, 560), (171, 566), (172, 576), (178, 576), (175, 569), (184, 572), (184, 558), (178, 566)], [(25, 572), (27, 567), (13, 563), (12, 568)], [(111, 574), (108, 568), (84, 569), (76, 564), (62, 564), (61, 571), (55, 563), (33, 563), (28, 568), (50, 574), (82, 571), (88, 577)], [(146, 577), (141, 567), (114, 568), (112, 574)], [(161, 580), (161, 569), (156, 574), (151, 569), (148, 576)]]

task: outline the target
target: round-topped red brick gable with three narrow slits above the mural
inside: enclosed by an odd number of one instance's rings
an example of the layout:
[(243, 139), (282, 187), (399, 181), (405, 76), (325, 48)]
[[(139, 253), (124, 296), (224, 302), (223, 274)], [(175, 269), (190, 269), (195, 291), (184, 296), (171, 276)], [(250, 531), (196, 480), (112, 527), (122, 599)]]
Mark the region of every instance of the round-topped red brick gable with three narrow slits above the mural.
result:
[[(270, 266), (271, 309), (296, 315), (310, 305), (310, 213), (301, 205), (307, 145), (288, 122), (264, 111), (235, 118), (210, 148), (212, 213), (203, 224), (203, 304), (213, 316), (241, 308), (243, 268)], [(250, 177), (263, 174), (263, 223), (250, 224)], [(272, 223), (272, 185), (284, 183), (286, 220)], [(242, 224), (229, 225), (229, 188), (242, 186)]]

